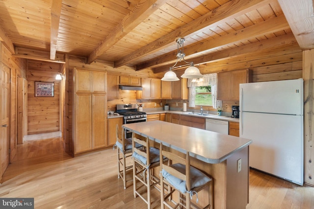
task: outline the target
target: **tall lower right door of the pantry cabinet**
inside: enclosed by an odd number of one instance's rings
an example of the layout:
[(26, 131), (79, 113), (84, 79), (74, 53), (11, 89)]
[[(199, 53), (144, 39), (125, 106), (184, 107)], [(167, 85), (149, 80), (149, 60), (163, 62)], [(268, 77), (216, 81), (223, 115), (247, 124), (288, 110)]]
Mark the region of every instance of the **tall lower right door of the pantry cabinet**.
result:
[(93, 94), (93, 149), (107, 146), (106, 102), (105, 94)]

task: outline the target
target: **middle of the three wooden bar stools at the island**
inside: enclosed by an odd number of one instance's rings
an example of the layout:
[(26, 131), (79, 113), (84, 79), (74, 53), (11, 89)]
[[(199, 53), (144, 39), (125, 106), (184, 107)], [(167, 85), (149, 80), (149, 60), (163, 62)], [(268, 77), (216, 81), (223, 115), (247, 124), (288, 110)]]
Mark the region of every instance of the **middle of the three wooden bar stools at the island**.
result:
[[(143, 150), (136, 148), (135, 143), (143, 146)], [(154, 147), (150, 147), (150, 141), (148, 137), (141, 136), (137, 133), (132, 133), (132, 148), (133, 148), (133, 193), (134, 198), (138, 195), (147, 204), (147, 208), (150, 209), (151, 201), (151, 189), (159, 184), (160, 180), (157, 176), (154, 176), (153, 169), (159, 166), (159, 150)], [(161, 162), (166, 162), (167, 159), (161, 159)], [(162, 163), (161, 163), (162, 164)], [(137, 185), (137, 181), (142, 183)], [(145, 192), (139, 191), (140, 188), (146, 186), (147, 199), (143, 196)], [(159, 190), (159, 189), (158, 189)], [(158, 200), (158, 199), (157, 199)]]

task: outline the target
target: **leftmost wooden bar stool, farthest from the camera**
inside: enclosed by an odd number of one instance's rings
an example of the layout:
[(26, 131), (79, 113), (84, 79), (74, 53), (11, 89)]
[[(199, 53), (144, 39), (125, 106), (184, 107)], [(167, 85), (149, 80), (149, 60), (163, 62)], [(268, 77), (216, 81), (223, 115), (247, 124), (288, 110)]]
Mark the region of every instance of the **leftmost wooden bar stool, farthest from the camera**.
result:
[[(127, 176), (126, 173), (132, 170), (133, 165), (126, 166), (126, 158), (132, 156), (132, 138), (124, 137), (124, 129), (119, 130), (119, 126), (116, 126), (117, 141), (114, 145), (117, 147), (117, 157), (118, 157), (118, 179), (120, 177), (123, 179), (124, 189), (127, 188)], [(138, 146), (140, 147), (140, 146)], [(132, 181), (130, 179), (128, 181)]]

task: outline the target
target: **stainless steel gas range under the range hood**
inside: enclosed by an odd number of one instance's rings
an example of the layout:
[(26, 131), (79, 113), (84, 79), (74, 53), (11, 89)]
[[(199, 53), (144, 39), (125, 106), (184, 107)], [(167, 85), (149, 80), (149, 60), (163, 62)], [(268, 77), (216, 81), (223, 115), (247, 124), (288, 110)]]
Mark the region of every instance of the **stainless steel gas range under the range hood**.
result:
[[(139, 123), (145, 122), (147, 119), (146, 112), (137, 111), (137, 104), (117, 104), (117, 113), (123, 115), (123, 123)], [(125, 137), (130, 138), (130, 131), (126, 131)]]

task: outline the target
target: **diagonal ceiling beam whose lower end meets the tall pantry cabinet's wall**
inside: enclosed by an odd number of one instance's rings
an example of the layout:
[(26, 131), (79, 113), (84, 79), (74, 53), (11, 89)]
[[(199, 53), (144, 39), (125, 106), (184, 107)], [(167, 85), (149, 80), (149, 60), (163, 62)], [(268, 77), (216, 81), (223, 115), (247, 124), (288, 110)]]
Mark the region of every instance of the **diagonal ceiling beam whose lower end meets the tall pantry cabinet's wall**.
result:
[[(168, 0), (169, 1), (169, 0)], [(112, 32), (102, 41), (99, 47), (91, 52), (87, 58), (87, 63), (90, 64), (95, 61), (98, 56), (110, 49), (115, 43), (127, 35), (136, 26), (142, 23), (147, 17), (155, 12), (167, 0), (141, 0), (130, 13), (123, 18)]]

